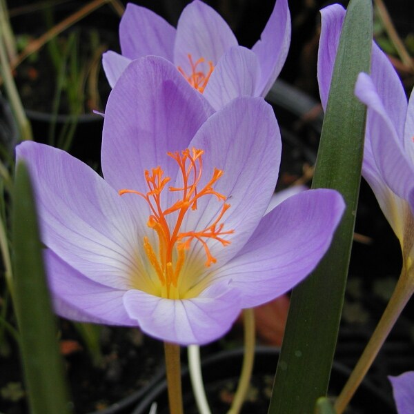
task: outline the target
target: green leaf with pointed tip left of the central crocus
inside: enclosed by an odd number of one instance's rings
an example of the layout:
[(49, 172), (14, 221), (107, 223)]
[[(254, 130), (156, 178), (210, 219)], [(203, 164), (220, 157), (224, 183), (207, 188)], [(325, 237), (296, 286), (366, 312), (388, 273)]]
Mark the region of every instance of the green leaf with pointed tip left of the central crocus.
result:
[(19, 163), (13, 193), (14, 292), (21, 356), (31, 413), (70, 413), (43, 269), (36, 208), (26, 166)]

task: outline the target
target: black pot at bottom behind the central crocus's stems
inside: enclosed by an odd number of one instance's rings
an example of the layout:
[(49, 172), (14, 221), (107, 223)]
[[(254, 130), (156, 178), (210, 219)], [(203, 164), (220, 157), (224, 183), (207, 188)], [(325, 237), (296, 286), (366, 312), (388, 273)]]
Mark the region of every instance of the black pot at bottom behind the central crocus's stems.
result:
[[(278, 357), (279, 350), (277, 348), (257, 347), (253, 377), (250, 383), (253, 388), (248, 393), (248, 400), (244, 403), (242, 414), (267, 413)], [(232, 393), (237, 386), (242, 367), (242, 359), (243, 349), (238, 348), (211, 355), (201, 363), (207, 399), (213, 413), (226, 413), (230, 408)], [(351, 371), (342, 364), (335, 363), (333, 365), (329, 395), (339, 393), (350, 373)], [(195, 406), (187, 368), (182, 371), (182, 387), (184, 412), (186, 414), (196, 414), (198, 411)], [(132, 414), (148, 414), (153, 402), (157, 403), (157, 414), (169, 413), (165, 380), (152, 388), (150, 393), (135, 408), (135, 411), (132, 411)], [(365, 380), (359, 387), (355, 397), (353, 397), (350, 413), (395, 414), (391, 394), (388, 398), (368, 380)]]

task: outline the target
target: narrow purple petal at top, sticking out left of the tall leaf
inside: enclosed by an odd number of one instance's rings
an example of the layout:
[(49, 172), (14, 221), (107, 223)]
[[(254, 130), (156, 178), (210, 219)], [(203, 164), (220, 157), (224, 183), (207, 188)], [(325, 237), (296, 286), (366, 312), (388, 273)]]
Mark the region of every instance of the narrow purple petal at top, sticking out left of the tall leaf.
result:
[(321, 10), (321, 37), (317, 54), (317, 83), (322, 106), (326, 109), (333, 65), (339, 46), (342, 24), (345, 19), (345, 9), (339, 4), (333, 4)]

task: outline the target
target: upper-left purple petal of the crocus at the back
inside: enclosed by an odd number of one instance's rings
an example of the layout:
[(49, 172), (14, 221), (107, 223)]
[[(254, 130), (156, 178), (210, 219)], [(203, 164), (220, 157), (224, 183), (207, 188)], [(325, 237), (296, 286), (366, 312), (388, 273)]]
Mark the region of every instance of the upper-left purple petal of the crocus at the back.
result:
[(137, 59), (146, 55), (172, 61), (175, 28), (155, 12), (128, 3), (119, 24), (122, 55)]

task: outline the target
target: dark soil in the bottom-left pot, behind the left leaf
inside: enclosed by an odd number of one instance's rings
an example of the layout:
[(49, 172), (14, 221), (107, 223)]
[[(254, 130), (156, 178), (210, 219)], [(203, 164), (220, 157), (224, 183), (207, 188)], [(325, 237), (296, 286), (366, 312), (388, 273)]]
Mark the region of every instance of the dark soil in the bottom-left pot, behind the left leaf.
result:
[[(75, 413), (103, 411), (162, 377), (162, 343), (138, 329), (101, 326), (101, 359), (92, 363), (88, 348), (68, 321), (61, 321), (61, 351)], [(19, 368), (19, 355), (0, 357), (0, 413), (26, 414), (26, 393)], [(45, 367), (47, 369), (47, 367)], [(119, 414), (128, 411), (119, 411)]]

